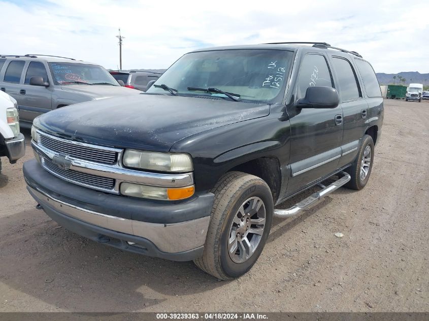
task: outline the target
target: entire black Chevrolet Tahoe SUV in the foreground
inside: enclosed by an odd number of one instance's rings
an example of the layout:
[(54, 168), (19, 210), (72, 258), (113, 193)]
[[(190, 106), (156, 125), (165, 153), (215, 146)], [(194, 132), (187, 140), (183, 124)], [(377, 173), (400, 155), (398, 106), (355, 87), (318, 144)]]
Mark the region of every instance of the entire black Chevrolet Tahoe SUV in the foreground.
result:
[[(230, 279), (256, 262), (274, 216), (365, 187), (382, 123), (377, 78), (356, 52), (201, 49), (146, 93), (36, 118), (36, 159), (23, 171), (37, 207), (63, 227)], [(311, 187), (320, 190), (276, 209)]]

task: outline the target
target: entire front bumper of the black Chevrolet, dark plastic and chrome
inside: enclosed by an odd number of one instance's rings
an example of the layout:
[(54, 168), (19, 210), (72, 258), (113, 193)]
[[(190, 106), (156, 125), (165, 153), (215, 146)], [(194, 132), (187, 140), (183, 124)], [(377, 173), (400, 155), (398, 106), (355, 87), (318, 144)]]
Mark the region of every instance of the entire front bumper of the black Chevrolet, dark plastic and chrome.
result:
[(203, 254), (214, 195), (175, 204), (106, 194), (65, 182), (36, 160), (24, 163), (27, 189), (63, 227), (126, 251), (173, 261)]

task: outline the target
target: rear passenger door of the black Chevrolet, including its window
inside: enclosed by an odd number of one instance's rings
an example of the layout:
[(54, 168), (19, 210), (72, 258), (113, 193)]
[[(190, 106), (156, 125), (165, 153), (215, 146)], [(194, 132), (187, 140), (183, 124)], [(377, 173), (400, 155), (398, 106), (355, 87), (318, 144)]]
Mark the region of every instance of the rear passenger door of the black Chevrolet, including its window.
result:
[(368, 103), (362, 96), (362, 90), (356, 76), (356, 70), (348, 54), (330, 54), (334, 68), (334, 78), (343, 109), (343, 139), (339, 167), (352, 162), (357, 155), (368, 117)]

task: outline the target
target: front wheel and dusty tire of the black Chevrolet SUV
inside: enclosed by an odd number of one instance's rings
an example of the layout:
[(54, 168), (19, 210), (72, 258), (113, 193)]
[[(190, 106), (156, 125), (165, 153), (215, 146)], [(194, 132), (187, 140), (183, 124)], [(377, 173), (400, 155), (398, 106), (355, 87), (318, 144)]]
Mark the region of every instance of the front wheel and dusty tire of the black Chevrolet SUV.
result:
[[(203, 256), (194, 263), (218, 279), (237, 278), (252, 268), (270, 234), (271, 190), (259, 177), (235, 171), (223, 175), (212, 192), (215, 200)], [(244, 251), (250, 248), (253, 251)]]

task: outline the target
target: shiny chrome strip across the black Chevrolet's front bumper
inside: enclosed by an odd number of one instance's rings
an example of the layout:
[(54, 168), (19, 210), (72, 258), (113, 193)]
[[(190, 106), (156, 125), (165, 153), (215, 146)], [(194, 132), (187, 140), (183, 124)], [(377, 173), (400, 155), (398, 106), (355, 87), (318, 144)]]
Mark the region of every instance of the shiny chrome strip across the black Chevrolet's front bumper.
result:
[(204, 245), (206, 241), (210, 216), (173, 224), (147, 223), (94, 212), (60, 201), (39, 189), (28, 188), (41, 202), (63, 215), (112, 231), (144, 237), (162, 252), (185, 252)]

